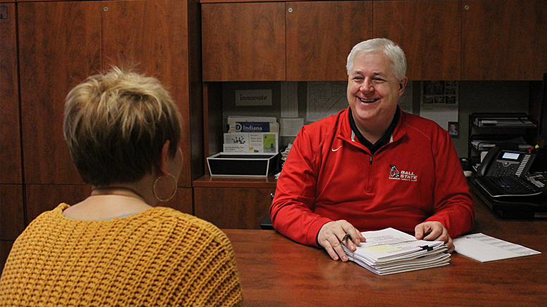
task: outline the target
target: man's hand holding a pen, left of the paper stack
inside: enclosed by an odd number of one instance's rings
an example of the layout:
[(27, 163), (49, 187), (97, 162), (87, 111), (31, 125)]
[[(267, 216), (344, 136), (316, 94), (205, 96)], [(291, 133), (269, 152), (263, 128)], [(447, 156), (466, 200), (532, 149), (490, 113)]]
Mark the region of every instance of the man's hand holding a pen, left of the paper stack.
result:
[[(346, 237), (346, 234), (348, 237)], [(326, 223), (317, 234), (317, 242), (325, 248), (329, 256), (333, 260), (341, 259), (344, 262), (348, 261), (348, 256), (346, 256), (341, 244), (346, 245), (351, 252), (354, 252), (357, 249), (355, 244), (365, 241), (365, 237), (361, 235), (359, 230), (344, 220)]]

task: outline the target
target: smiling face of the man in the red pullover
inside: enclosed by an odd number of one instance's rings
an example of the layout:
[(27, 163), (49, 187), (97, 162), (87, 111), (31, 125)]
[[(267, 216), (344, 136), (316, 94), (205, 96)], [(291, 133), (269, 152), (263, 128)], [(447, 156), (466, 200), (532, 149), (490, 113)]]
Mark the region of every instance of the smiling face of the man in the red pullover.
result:
[(384, 133), (395, 115), (407, 78), (398, 81), (391, 67), (382, 53), (360, 53), (353, 62), (348, 75), (348, 103), (363, 135)]

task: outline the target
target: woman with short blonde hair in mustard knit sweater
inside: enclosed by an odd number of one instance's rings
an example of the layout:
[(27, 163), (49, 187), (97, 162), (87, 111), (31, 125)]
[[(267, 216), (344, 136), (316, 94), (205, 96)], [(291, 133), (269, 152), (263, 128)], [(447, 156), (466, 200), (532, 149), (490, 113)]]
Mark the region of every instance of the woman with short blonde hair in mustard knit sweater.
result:
[(65, 139), (92, 185), (13, 244), (0, 306), (240, 306), (232, 245), (195, 216), (156, 207), (177, 191), (180, 114), (157, 79), (113, 70), (68, 93)]

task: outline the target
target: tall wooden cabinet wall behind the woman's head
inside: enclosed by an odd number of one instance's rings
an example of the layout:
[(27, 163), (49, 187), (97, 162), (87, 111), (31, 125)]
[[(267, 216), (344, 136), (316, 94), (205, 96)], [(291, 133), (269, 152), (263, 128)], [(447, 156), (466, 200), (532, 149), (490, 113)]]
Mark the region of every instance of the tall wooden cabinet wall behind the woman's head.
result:
[(3, 1), (0, 8), (2, 263), (28, 222), (89, 195), (63, 139), (65, 96), (112, 65), (157, 77), (179, 106), (184, 169), (175, 199), (162, 205), (192, 214), (191, 181), (204, 167), (199, 2)]

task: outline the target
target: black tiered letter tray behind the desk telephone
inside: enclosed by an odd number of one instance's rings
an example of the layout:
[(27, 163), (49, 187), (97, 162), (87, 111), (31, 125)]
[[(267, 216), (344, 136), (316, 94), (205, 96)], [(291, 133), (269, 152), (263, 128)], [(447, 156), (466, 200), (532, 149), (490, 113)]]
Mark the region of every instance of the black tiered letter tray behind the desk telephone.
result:
[(469, 150), (471, 165), (480, 163), (481, 152), (494, 146), (508, 150), (528, 150), (536, 124), (526, 113), (472, 113), (469, 115)]

